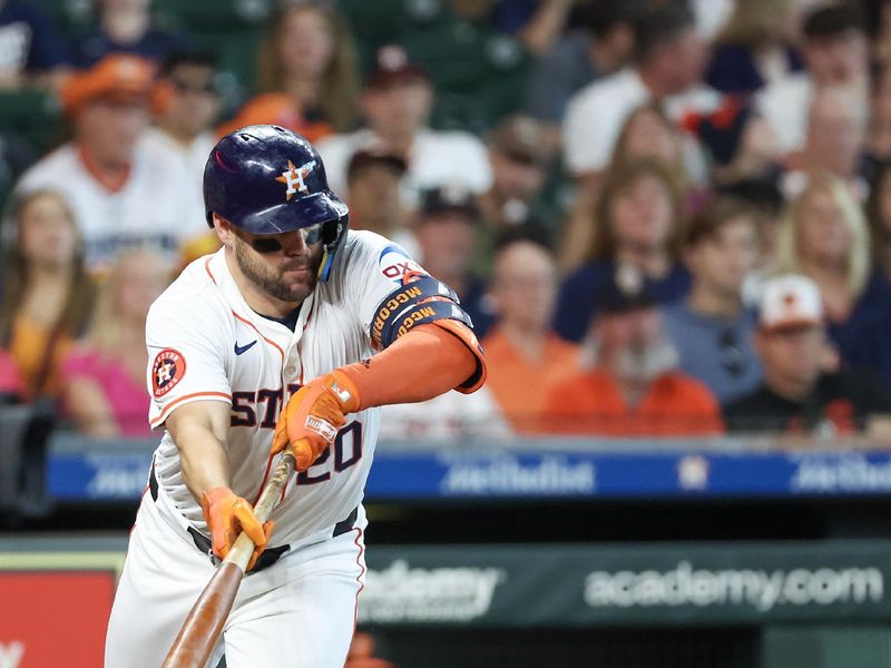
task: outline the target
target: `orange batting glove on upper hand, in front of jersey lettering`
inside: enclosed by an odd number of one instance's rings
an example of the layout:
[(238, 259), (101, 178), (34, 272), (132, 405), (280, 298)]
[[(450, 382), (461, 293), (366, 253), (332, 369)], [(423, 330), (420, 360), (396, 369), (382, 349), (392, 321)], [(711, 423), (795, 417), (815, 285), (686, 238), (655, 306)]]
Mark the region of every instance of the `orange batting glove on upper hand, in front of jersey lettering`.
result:
[(271, 453), (290, 446), (297, 471), (305, 471), (334, 442), (346, 413), (359, 405), (359, 392), (345, 373), (335, 370), (310, 381), (282, 409)]

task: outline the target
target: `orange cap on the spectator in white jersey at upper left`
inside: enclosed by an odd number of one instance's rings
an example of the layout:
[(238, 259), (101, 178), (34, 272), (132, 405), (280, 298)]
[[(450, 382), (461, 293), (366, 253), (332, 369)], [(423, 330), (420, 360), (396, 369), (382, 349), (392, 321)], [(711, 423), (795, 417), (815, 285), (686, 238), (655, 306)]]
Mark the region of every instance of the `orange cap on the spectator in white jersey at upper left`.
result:
[(65, 112), (76, 115), (85, 102), (97, 98), (148, 102), (155, 82), (149, 60), (127, 53), (111, 53), (91, 68), (71, 75), (61, 91)]

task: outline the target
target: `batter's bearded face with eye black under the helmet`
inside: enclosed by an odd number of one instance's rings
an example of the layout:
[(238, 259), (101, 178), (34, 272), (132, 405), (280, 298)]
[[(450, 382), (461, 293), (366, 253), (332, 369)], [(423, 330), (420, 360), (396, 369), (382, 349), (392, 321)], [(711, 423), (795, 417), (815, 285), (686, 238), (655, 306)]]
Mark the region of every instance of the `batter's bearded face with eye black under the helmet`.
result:
[(321, 225), (262, 236), (239, 230), (233, 242), (242, 274), (271, 297), (300, 303), (315, 289), (322, 262)]

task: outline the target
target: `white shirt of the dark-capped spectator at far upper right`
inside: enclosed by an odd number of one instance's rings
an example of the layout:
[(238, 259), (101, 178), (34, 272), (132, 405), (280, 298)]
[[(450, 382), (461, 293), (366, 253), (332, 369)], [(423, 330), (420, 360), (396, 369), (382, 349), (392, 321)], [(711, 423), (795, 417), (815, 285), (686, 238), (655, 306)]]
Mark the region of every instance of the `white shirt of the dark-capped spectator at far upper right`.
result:
[(813, 82), (805, 72), (786, 75), (765, 86), (755, 97), (755, 107), (770, 124), (782, 154), (804, 146), (812, 97)]

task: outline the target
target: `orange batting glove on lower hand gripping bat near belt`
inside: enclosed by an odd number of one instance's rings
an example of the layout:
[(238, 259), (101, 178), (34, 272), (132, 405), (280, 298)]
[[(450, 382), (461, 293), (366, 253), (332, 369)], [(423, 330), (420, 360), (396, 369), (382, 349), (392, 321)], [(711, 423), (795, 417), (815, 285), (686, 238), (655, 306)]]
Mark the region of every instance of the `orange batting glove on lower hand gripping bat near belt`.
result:
[(251, 556), (247, 570), (254, 568), (257, 558), (266, 548), (266, 541), (275, 522), (261, 524), (254, 517), (251, 504), (229, 488), (214, 488), (204, 492), (202, 510), (213, 536), (214, 554), (225, 559), (238, 533), (244, 531), (254, 541), (254, 553)]

